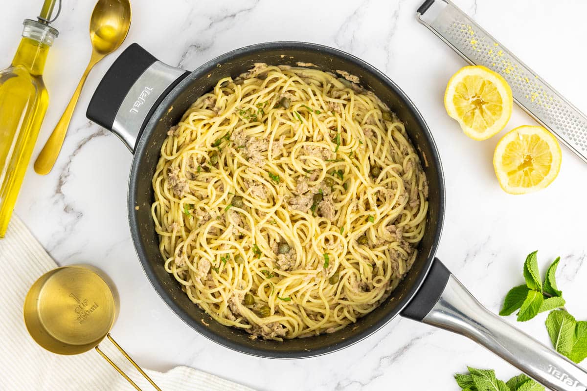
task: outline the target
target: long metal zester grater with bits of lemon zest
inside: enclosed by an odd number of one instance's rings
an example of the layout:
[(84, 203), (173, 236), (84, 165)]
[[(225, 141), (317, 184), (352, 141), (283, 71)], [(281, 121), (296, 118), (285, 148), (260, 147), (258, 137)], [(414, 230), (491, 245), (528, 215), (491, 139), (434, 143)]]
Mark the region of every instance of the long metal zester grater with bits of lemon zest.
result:
[(450, 0), (426, 0), (420, 23), (463, 59), (501, 74), (515, 103), (587, 162), (587, 117)]

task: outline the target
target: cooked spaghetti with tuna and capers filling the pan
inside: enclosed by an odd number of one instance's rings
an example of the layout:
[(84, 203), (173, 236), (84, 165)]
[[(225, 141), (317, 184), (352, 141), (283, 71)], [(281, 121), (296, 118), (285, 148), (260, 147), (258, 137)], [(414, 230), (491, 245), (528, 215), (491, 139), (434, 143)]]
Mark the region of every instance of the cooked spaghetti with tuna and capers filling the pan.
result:
[(416, 258), (419, 157), (389, 108), (340, 74), (256, 64), (198, 98), (161, 147), (152, 215), (165, 268), (251, 338), (342, 329)]

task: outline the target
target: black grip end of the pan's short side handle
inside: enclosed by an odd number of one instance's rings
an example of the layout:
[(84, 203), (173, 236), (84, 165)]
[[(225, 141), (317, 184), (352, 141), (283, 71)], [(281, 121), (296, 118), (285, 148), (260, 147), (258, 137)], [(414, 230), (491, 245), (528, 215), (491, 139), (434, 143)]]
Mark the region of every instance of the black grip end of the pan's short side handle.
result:
[(141, 74), (156, 61), (155, 57), (137, 43), (127, 47), (98, 84), (87, 107), (86, 117), (112, 130), (114, 118), (124, 97)]

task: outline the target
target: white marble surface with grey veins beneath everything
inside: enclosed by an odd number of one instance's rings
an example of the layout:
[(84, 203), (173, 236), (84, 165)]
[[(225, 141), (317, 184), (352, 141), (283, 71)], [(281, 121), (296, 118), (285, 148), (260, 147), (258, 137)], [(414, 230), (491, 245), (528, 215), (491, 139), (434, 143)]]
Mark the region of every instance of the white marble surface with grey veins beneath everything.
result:
[[(456, 0), (485, 29), (583, 111), (587, 3), (581, 0)], [(0, 64), (16, 49), (23, 18), (40, 0), (2, 0)], [(446, 222), (438, 257), (492, 311), (522, 282), (522, 261), (539, 249), (543, 269), (562, 257), (559, 287), (569, 311), (587, 319), (587, 165), (563, 149), (561, 173), (541, 192), (501, 191), (491, 158), (498, 137), (477, 142), (447, 117), (448, 78), (464, 65), (414, 18), (420, 0), (190, 1), (132, 0), (133, 23), (124, 46), (138, 42), (164, 62), (191, 70), (228, 50), (271, 40), (337, 47), (388, 74), (420, 108), (444, 165)], [(93, 2), (64, 0), (55, 23), (60, 37), (49, 53), (45, 80), (50, 106), (36, 157), (75, 89), (90, 55), (87, 24)], [(120, 53), (120, 50), (119, 52)], [(187, 327), (144, 276), (126, 213), (132, 156), (114, 135), (90, 124), (85, 108), (116, 55), (90, 74), (57, 164), (47, 176), (26, 175), (16, 213), (60, 264), (94, 264), (112, 277), (121, 297), (113, 335), (147, 368), (189, 365), (260, 390), (457, 389), (452, 374), (466, 365), (519, 371), (464, 337), (393, 319), (375, 335), (319, 358), (276, 361), (222, 348)], [(533, 124), (519, 108), (508, 129)], [(6, 266), (5, 266), (6, 267)], [(545, 315), (525, 331), (545, 343)], [(513, 317), (507, 319), (515, 322)], [(106, 364), (104, 364), (106, 365)], [(583, 366), (586, 366), (583, 363)]]

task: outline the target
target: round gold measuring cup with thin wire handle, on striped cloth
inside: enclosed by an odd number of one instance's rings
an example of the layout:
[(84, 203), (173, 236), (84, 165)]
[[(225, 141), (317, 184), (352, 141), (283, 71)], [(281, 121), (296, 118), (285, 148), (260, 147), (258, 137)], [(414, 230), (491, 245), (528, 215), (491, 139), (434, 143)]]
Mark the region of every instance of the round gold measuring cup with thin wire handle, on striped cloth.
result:
[(108, 338), (158, 391), (161, 389), (110, 336), (117, 316), (116, 291), (107, 277), (86, 266), (65, 266), (48, 271), (26, 294), (24, 315), (26, 328), (35, 342), (50, 352), (75, 355), (94, 348), (107, 362), (133, 382), (98, 345)]

